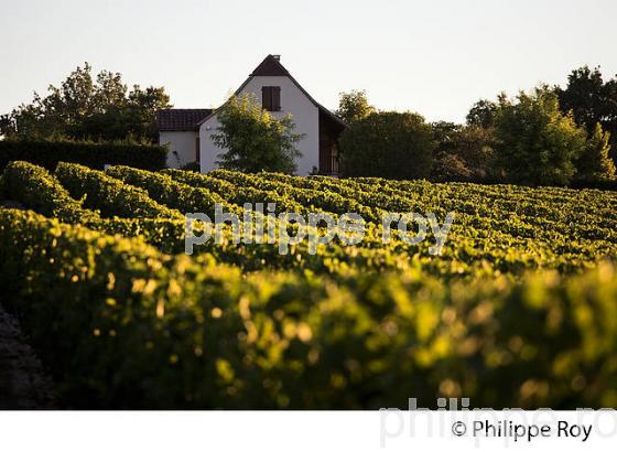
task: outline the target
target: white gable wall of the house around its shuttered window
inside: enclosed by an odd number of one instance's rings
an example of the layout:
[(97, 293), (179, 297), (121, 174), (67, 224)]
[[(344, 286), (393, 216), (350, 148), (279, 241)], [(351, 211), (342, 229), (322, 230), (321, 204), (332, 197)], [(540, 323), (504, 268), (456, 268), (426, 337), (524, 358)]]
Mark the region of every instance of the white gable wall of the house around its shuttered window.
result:
[[(274, 111), (272, 115), (281, 118), (291, 114), (295, 123), (294, 132), (305, 134), (296, 143), (296, 148), (302, 153), (302, 157), (297, 160), (297, 174), (310, 174), (313, 168), (320, 166), (320, 111), (317, 107), (289, 77), (284, 76), (252, 77), (240, 94), (252, 93), (257, 100), (261, 101), (261, 87), (263, 86), (281, 87), (281, 111)], [(223, 149), (214, 146), (210, 138), (217, 128), (216, 116), (208, 119), (199, 128), (202, 172), (216, 169), (216, 155), (224, 152)]]

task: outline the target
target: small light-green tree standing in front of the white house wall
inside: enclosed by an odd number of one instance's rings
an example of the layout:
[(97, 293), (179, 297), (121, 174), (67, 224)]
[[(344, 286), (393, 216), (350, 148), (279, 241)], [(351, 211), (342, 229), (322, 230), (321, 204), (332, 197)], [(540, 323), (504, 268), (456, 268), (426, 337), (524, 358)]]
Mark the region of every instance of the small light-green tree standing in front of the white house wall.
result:
[(227, 170), (256, 173), (259, 171), (295, 172), (295, 148), (304, 136), (293, 133), (290, 115), (274, 118), (261, 108), (253, 96), (232, 96), (217, 110), (218, 132), (212, 134), (214, 144), (225, 149), (217, 163)]

